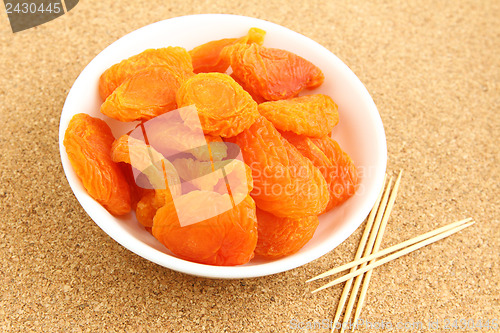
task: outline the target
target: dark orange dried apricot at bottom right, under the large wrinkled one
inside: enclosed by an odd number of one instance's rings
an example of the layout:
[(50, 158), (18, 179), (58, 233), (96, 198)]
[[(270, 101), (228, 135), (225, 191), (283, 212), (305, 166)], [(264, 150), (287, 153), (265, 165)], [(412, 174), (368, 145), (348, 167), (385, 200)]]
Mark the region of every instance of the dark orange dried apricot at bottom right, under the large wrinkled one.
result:
[(255, 254), (277, 259), (300, 250), (313, 237), (319, 220), (316, 215), (277, 217), (257, 208), (257, 246)]

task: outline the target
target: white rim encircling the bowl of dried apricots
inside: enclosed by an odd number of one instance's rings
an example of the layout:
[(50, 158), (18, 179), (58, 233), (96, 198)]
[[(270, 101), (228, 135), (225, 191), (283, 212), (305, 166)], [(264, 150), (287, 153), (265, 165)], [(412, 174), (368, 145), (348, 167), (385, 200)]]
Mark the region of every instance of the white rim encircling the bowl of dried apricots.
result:
[[(89, 68), (93, 68), (93, 66), (102, 57), (105, 57), (108, 53), (110, 53), (110, 50), (117, 48), (122, 44), (126, 44), (129, 40), (133, 40), (134, 38), (136, 38), (136, 36), (140, 36), (141, 34), (149, 30), (160, 29), (162, 26), (163, 28), (165, 28), (170, 25), (173, 26), (180, 23), (185, 24), (187, 21), (191, 21), (193, 19), (202, 22), (208, 22), (208, 21), (220, 22), (221, 20), (229, 20), (235, 22), (244, 21), (249, 23), (249, 25), (257, 26), (266, 31), (268, 31), (269, 28), (272, 28), (273, 31), (277, 30), (280, 32), (285, 32), (287, 34), (290, 34), (294, 37), (294, 39), (297, 39), (299, 41), (298, 44), (306, 43), (309, 45), (314, 45), (314, 47), (317, 48), (318, 50), (321, 50), (321, 52), (327, 52), (329, 56), (331, 56), (331, 60), (334, 61), (336, 63), (336, 66), (339, 66), (339, 68), (343, 72), (345, 72), (346, 75), (349, 76), (351, 83), (355, 85), (356, 90), (359, 90), (359, 92), (363, 96), (364, 99), (363, 103), (365, 103), (368, 106), (368, 109), (370, 110), (370, 116), (372, 118), (371, 120), (374, 122), (374, 130), (376, 132), (375, 140), (377, 140), (378, 144), (380, 145), (379, 147), (383, 155), (379, 156), (378, 168), (376, 170), (376, 174), (374, 175), (375, 185), (372, 186), (369, 193), (366, 194), (366, 199), (363, 201), (363, 204), (359, 208), (359, 211), (356, 212), (355, 219), (353, 219), (355, 220), (355, 223), (350, 223), (347, 226), (344, 226), (344, 228), (342, 229), (342, 235), (337, 236), (334, 242), (331, 243), (324, 242), (323, 244), (316, 246), (314, 248), (314, 251), (312, 252), (310, 251), (307, 253), (300, 253), (299, 251), (298, 253), (294, 254), (293, 257), (289, 256), (279, 259), (278, 265), (277, 265), (278, 263), (277, 260), (250, 266), (245, 266), (245, 265), (212, 266), (212, 265), (200, 264), (200, 263), (186, 261), (177, 258), (175, 256), (169, 255), (167, 253), (161, 252), (143, 242), (139, 242), (135, 237), (125, 232), (124, 230), (113, 229), (112, 225), (107, 224), (100, 220), (100, 213), (102, 212), (102, 210), (100, 210), (99, 207), (96, 206), (95, 204), (91, 204), (91, 201), (93, 199), (89, 200), (89, 196), (85, 191), (84, 191), (85, 193), (82, 193), (81, 188), (79, 188), (78, 184), (79, 180), (75, 178), (76, 176), (71, 168), (71, 164), (67, 159), (66, 151), (63, 145), (64, 133), (67, 128), (67, 122), (68, 122), (67, 119), (66, 121), (63, 121), (63, 119), (65, 119), (64, 116), (66, 113), (70, 113), (71, 115), (73, 115), (71, 111), (67, 111), (69, 108), (68, 105), (69, 100), (76, 93), (76, 87), (78, 87), (81, 84), (84, 73), (86, 73), (86, 71), (88, 71)], [(365, 86), (361, 83), (359, 78), (349, 69), (349, 67), (346, 64), (344, 64), (336, 55), (334, 55), (331, 51), (329, 51), (316, 41), (304, 35), (301, 35), (293, 30), (290, 30), (284, 26), (258, 18), (241, 16), (241, 15), (232, 15), (232, 14), (194, 14), (194, 15), (185, 15), (185, 16), (169, 18), (134, 30), (124, 35), (123, 37), (119, 38), (110, 45), (108, 45), (96, 57), (94, 57), (92, 61), (90, 61), (89, 64), (82, 70), (82, 72), (79, 74), (79, 76), (73, 83), (66, 97), (64, 106), (62, 108), (61, 119), (59, 124), (59, 150), (60, 150), (61, 163), (63, 165), (66, 178), (73, 191), (73, 194), (75, 195), (75, 197), (77, 198), (83, 209), (86, 211), (86, 213), (89, 215), (89, 217), (112, 239), (114, 239), (116, 242), (118, 242), (120, 245), (130, 250), (131, 252), (149, 261), (152, 261), (160, 266), (164, 266), (169, 269), (190, 275), (206, 277), (206, 278), (218, 278), (218, 279), (255, 278), (255, 277), (281, 273), (305, 265), (307, 263), (310, 263), (322, 257), (323, 255), (327, 254), (328, 252), (332, 251), (333, 249), (335, 249), (340, 243), (345, 241), (352, 233), (354, 233), (354, 231), (362, 224), (362, 222), (368, 216), (373, 204), (376, 201), (378, 193), (382, 188), (383, 178), (387, 166), (387, 143), (380, 114), (368, 90), (365, 88)]]

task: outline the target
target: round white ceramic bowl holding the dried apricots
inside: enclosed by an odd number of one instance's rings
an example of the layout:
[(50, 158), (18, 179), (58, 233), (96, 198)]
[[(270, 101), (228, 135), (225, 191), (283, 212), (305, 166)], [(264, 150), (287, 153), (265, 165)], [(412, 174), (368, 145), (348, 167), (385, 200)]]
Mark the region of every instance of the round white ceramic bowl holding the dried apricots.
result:
[[(314, 93), (330, 95), (339, 105), (340, 122), (333, 137), (352, 157), (360, 172), (357, 193), (340, 207), (320, 217), (314, 237), (298, 253), (274, 261), (254, 259), (235, 267), (197, 264), (171, 254), (144, 230), (133, 213), (116, 218), (94, 201), (74, 173), (63, 146), (72, 116), (87, 113), (110, 125), (115, 137), (130, 129), (99, 112), (98, 79), (111, 65), (148, 48), (182, 46), (187, 50), (207, 41), (239, 37), (251, 27), (264, 29), (264, 46), (294, 52), (317, 65), (325, 82)], [(209, 278), (250, 278), (275, 274), (304, 265), (334, 249), (349, 237), (368, 215), (382, 186), (387, 161), (385, 133), (370, 94), (354, 73), (335, 55), (311, 39), (282, 26), (250, 17), (206, 14), (183, 16), (138, 29), (111, 44), (95, 57), (71, 88), (61, 114), (59, 148), (62, 165), (76, 198), (92, 220), (130, 251), (159, 265)]]

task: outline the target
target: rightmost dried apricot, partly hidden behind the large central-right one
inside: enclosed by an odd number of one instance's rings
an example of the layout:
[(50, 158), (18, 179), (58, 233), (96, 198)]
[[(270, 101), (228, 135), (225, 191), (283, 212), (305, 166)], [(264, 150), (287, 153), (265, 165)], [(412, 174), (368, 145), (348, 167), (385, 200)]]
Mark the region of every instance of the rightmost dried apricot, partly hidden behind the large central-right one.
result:
[(358, 182), (356, 167), (335, 140), (329, 136), (308, 138), (290, 132), (283, 133), (283, 136), (325, 177), (330, 192), (325, 212), (354, 195)]

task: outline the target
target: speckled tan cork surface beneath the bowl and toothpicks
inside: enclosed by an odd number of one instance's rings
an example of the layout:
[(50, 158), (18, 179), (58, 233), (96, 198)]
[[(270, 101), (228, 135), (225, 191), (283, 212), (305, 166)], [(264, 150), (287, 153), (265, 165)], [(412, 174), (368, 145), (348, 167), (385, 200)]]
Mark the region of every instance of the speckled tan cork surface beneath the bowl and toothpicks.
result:
[(388, 171), (405, 170), (382, 247), (465, 217), (477, 221), (378, 268), (362, 318), (500, 317), (498, 1), (81, 1), (16, 34), (0, 12), (1, 331), (286, 332), (291, 320), (332, 319), (341, 287), (312, 295), (319, 284), (304, 281), (350, 261), (362, 228), (286, 273), (197, 278), (114, 242), (64, 176), (59, 116), (87, 63), (149, 23), (216, 12), (316, 40), (370, 91), (385, 125)]

